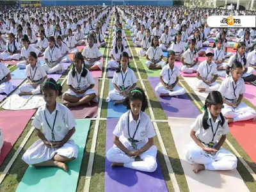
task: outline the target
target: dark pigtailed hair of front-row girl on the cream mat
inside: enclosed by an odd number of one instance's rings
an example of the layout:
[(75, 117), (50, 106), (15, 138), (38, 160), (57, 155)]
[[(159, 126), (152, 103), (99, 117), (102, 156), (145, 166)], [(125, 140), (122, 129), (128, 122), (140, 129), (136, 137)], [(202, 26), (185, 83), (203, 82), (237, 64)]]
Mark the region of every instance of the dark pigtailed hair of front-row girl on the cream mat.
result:
[[(204, 127), (204, 129), (208, 129), (209, 128), (209, 124), (207, 124), (207, 120), (209, 118), (208, 107), (211, 106), (211, 105), (215, 106), (217, 104), (223, 104), (222, 95), (218, 91), (212, 91), (207, 96), (207, 98), (205, 100), (205, 104), (204, 104), (204, 116), (203, 116), (203, 127)], [(225, 123), (225, 118), (222, 115), (222, 113), (220, 113), (220, 118), (221, 118), (220, 125), (222, 127), (223, 124)]]

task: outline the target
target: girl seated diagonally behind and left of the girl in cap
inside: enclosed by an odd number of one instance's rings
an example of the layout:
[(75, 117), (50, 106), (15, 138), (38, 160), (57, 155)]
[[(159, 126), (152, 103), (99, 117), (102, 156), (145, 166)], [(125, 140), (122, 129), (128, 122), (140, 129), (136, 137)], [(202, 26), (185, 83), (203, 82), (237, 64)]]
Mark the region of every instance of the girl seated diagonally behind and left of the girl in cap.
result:
[(181, 62), (183, 65), (180, 67), (180, 70), (187, 74), (196, 72), (198, 68), (198, 53), (195, 51), (195, 44), (195, 38), (189, 40), (189, 49), (187, 49), (187, 51), (185, 51), (181, 56)]

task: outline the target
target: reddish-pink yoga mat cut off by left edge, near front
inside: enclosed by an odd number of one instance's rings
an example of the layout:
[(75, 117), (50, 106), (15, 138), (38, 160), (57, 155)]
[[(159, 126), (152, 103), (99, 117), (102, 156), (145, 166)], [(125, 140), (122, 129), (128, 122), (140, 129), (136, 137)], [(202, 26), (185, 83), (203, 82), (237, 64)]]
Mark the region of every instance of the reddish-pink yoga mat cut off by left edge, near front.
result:
[(4, 145), (0, 154), (0, 165), (8, 155), (20, 134), (28, 124), (34, 110), (0, 111), (0, 127), (3, 132)]

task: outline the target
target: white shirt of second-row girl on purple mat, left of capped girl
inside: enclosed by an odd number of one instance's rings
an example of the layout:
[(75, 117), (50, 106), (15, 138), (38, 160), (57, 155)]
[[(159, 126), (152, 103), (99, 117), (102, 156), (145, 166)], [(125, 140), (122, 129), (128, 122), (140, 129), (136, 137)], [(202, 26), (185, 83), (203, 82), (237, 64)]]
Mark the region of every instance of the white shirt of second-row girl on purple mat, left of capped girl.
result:
[(160, 72), (160, 76), (162, 76), (164, 83), (168, 85), (175, 83), (179, 75), (180, 75), (179, 68), (174, 65), (173, 69), (171, 69), (169, 64), (165, 65)]

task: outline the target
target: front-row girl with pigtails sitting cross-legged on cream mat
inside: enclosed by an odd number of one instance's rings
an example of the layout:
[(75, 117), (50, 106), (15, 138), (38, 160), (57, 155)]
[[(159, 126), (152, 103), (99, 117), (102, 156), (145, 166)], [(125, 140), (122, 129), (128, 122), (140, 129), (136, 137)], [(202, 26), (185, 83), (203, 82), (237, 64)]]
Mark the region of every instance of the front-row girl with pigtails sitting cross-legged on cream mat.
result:
[(186, 153), (186, 160), (195, 164), (193, 172), (202, 170), (233, 170), (237, 166), (237, 158), (222, 147), (228, 133), (228, 124), (221, 109), (223, 100), (221, 93), (212, 91), (205, 100), (204, 114), (198, 115), (191, 125), (190, 136), (193, 143)]

